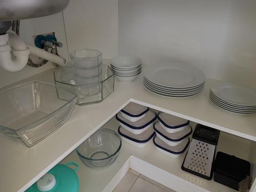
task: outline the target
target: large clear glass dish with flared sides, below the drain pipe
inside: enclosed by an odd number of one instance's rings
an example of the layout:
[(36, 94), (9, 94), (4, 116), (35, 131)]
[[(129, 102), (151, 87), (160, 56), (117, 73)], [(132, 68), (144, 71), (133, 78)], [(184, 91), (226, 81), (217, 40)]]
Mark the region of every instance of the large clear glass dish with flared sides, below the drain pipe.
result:
[(31, 147), (65, 124), (77, 96), (65, 89), (31, 81), (0, 90), (0, 132)]

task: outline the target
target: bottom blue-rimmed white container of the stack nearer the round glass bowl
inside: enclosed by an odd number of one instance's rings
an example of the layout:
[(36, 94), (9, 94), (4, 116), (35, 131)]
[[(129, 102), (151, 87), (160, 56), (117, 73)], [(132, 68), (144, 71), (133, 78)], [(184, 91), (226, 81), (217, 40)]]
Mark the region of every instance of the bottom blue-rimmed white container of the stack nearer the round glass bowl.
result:
[(156, 135), (152, 126), (139, 135), (133, 134), (124, 129), (122, 126), (119, 126), (118, 133), (122, 140), (137, 147), (146, 146), (147, 143), (149, 143), (150, 140)]

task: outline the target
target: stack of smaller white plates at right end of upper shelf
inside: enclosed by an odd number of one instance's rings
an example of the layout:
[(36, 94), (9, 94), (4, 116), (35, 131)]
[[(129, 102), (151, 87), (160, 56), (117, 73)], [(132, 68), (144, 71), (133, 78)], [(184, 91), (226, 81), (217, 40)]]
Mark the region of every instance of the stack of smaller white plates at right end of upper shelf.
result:
[(209, 97), (223, 110), (242, 115), (256, 113), (256, 89), (224, 83), (212, 87)]

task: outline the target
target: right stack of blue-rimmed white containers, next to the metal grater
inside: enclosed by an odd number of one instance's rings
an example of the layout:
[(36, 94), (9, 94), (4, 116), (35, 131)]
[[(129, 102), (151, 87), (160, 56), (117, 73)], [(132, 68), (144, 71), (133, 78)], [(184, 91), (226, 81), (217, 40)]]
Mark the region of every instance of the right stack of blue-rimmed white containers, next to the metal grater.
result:
[(157, 118), (153, 140), (157, 150), (170, 157), (179, 157), (190, 143), (189, 135), (193, 131), (189, 121), (163, 112), (159, 112)]

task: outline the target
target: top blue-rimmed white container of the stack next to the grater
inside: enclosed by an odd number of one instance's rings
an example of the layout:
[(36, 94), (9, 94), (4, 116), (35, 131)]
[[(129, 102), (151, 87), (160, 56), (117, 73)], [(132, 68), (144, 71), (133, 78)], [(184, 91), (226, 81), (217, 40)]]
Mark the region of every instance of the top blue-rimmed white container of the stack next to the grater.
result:
[(189, 121), (174, 115), (167, 113), (159, 112), (157, 118), (160, 121), (160, 124), (168, 133), (175, 133), (185, 129), (186, 125), (189, 124)]

